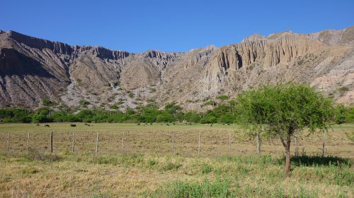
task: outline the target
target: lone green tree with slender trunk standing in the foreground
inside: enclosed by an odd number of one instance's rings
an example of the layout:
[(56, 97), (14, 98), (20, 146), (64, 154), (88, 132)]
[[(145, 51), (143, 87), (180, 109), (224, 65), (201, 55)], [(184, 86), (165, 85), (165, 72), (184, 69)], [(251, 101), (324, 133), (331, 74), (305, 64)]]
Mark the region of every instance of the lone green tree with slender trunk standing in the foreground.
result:
[(333, 120), (330, 99), (308, 85), (293, 83), (251, 89), (239, 95), (241, 121), (253, 131), (261, 130), (279, 137), (285, 149), (285, 172), (290, 172), (292, 135), (308, 128), (309, 132), (327, 131)]

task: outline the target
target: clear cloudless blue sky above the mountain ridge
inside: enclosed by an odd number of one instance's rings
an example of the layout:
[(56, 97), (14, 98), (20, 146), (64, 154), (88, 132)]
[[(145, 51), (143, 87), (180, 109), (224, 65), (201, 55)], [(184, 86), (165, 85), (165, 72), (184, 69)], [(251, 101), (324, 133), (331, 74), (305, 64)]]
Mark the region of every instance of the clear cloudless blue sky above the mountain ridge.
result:
[(348, 1), (0, 1), (0, 29), (78, 45), (187, 51), (258, 33), (354, 25)]

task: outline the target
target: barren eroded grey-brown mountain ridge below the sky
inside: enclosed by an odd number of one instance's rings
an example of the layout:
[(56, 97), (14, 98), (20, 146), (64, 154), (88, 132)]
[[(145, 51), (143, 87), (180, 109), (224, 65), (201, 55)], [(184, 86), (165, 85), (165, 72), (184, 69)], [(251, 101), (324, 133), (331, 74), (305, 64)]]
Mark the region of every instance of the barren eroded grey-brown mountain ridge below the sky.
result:
[(133, 54), (103, 47), (70, 46), (0, 30), (0, 107), (35, 109), (57, 104), (123, 111), (148, 101), (176, 101), (185, 109), (215, 97), (278, 82), (305, 82), (354, 104), (354, 26), (312, 34), (251, 35), (239, 44), (186, 52)]

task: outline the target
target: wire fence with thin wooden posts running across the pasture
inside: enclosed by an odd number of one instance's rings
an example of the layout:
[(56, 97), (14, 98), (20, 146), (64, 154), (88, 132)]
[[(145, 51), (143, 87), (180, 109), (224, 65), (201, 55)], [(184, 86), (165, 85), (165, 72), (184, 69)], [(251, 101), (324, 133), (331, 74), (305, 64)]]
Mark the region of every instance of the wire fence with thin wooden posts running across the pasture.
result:
[[(318, 140), (317, 140), (318, 139)], [(294, 141), (292, 141), (294, 142)], [(340, 141), (326, 145), (326, 154), (338, 155)], [(321, 154), (321, 136), (311, 141), (297, 139), (299, 153)], [(0, 132), (0, 150), (20, 154), (39, 152), (76, 152), (93, 154), (137, 153), (178, 156), (226, 156), (256, 154), (256, 140), (224, 130), (119, 130), (119, 131), (48, 131)], [(294, 144), (292, 145), (294, 149)], [(282, 156), (279, 140), (262, 140), (261, 154)]]

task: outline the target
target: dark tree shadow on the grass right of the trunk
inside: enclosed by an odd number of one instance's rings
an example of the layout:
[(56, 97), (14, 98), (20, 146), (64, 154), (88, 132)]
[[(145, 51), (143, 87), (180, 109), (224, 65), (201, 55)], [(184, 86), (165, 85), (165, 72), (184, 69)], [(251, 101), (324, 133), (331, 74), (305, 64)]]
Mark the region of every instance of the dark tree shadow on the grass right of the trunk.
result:
[[(285, 161), (285, 159), (284, 159)], [(292, 156), (292, 165), (295, 166), (349, 166), (350, 159), (338, 156)]]

